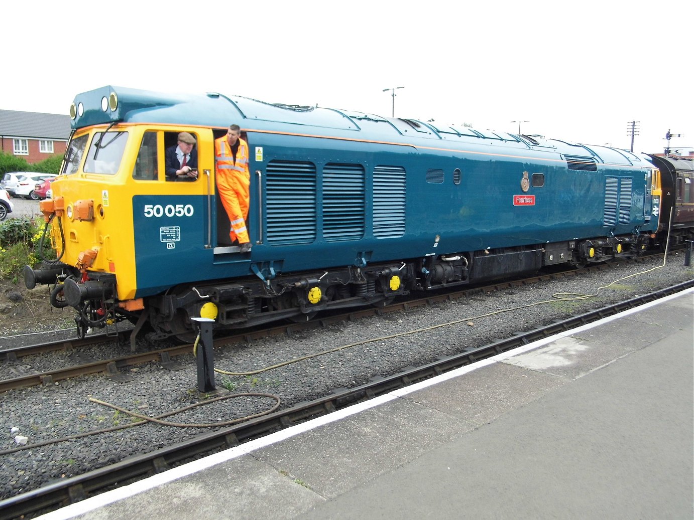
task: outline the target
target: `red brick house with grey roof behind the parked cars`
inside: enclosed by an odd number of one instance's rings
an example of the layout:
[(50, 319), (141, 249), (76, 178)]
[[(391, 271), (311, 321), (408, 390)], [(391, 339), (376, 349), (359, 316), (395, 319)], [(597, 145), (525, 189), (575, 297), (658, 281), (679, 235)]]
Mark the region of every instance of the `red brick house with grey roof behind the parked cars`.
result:
[(70, 137), (70, 116), (0, 110), (0, 151), (28, 163), (63, 155)]

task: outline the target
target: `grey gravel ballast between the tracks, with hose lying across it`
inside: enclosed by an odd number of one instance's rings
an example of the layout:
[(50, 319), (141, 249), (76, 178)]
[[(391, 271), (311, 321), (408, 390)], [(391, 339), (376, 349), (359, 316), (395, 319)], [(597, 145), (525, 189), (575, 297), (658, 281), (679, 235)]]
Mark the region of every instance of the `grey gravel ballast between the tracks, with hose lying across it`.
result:
[[(652, 259), (600, 272), (583, 273), (577, 277), (443, 302), (409, 312), (389, 313), (282, 338), (266, 338), (218, 348), (215, 350), (216, 368), (246, 372), (341, 345), (369, 342), (269, 372), (248, 376), (216, 374), (216, 383), (218, 388), (226, 388), (225, 391), (230, 390), (230, 393), (266, 392), (278, 395), (283, 407), (292, 406), (321, 397), (336, 388), (365, 383), (373, 376), (393, 374), (409, 365), (420, 365), (437, 356), (455, 354), (462, 347), (486, 345), (517, 331), (534, 329), (568, 315), (650, 293), (694, 277), (694, 270), (683, 266), (682, 254), (673, 254), (664, 268), (618, 281), (589, 300), (553, 301), (500, 312), (552, 300), (555, 293), (593, 294), (599, 287), (607, 286), (616, 279), (656, 268), (661, 263), (658, 259)], [(495, 314), (485, 316), (488, 313)], [(450, 322), (455, 324), (408, 333)], [(3, 333), (10, 335), (8, 327), (3, 327), (3, 330)], [(385, 338), (395, 334), (398, 336)], [(126, 354), (128, 345), (111, 345), (105, 349)], [(91, 354), (99, 357), (104, 352)], [(75, 355), (60, 352), (44, 356), (44, 360), (22, 359), (20, 363), (29, 370), (38, 370), (42, 363), (75, 363)], [(1, 431), (5, 433), (0, 440), (0, 450), (17, 448), (17, 435), (28, 437), (27, 445), (31, 445), (133, 422), (124, 413), (90, 401), (90, 397), (149, 416), (203, 401), (204, 397), (198, 396), (197, 392), (194, 359), (177, 358), (176, 361), (184, 365), (183, 370), (171, 372), (155, 363), (134, 367), (129, 372), (130, 382), (119, 383), (99, 374), (0, 395), (3, 410), (0, 424)], [(6, 373), (8, 369), (3, 367), (2, 370)], [(266, 397), (239, 397), (203, 405), (175, 415), (170, 420), (187, 423), (228, 421), (271, 408), (273, 404), (274, 401)], [(3, 460), (0, 499), (209, 430), (146, 424), (13, 453), (0, 452)]]

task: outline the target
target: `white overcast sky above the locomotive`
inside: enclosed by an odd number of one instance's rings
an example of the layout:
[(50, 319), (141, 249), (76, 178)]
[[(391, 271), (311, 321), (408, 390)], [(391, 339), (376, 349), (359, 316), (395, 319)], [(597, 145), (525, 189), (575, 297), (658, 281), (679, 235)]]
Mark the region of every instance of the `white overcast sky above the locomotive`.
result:
[(0, 108), (118, 85), (694, 150), (691, 0), (3, 3)]

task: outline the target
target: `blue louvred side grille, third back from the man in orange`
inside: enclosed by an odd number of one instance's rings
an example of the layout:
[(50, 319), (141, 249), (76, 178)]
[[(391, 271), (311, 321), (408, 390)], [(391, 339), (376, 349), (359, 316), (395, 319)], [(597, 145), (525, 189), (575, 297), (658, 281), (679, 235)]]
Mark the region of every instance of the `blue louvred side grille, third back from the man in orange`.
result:
[(373, 168), (373, 236), (394, 239), (405, 234), (405, 168)]

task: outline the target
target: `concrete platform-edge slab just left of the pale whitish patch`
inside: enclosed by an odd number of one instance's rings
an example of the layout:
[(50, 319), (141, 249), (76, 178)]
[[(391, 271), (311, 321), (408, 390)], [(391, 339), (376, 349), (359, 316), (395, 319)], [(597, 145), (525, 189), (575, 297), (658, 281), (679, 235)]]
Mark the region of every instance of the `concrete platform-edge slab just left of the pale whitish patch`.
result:
[(567, 382), (567, 379), (523, 367), (493, 363), (484, 370), (413, 392), (406, 399), (480, 425)]

